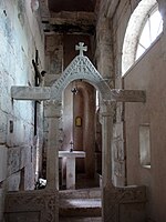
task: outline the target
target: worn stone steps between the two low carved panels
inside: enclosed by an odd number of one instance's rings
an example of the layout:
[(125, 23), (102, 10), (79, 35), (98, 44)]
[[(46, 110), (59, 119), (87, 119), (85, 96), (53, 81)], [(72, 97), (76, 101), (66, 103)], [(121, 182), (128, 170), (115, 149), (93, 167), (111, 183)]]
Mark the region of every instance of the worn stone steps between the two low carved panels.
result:
[[(101, 189), (60, 192), (60, 216), (97, 218), (102, 214)], [(74, 218), (72, 218), (74, 219)]]

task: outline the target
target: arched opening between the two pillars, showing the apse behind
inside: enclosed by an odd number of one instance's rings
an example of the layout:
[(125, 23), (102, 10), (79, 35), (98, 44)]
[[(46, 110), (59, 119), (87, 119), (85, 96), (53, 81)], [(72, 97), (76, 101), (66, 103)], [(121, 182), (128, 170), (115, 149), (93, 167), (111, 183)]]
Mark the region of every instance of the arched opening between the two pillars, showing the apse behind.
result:
[[(94, 179), (95, 175), (95, 88), (83, 80), (71, 82), (63, 92), (63, 142), (61, 150), (70, 150), (72, 145), (74, 151), (86, 153), (85, 158), (76, 158), (75, 160), (75, 172), (79, 181), (80, 176), (90, 180)], [(63, 162), (62, 169), (65, 178), (65, 162)], [(87, 180), (84, 185), (87, 185)]]

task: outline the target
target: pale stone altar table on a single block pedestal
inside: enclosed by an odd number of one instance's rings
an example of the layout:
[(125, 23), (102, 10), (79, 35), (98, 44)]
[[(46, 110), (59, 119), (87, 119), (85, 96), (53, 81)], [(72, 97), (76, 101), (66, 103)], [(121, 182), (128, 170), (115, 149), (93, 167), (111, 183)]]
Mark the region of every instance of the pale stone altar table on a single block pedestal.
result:
[(59, 158), (66, 158), (66, 189), (75, 189), (75, 158), (85, 158), (85, 152), (59, 151)]

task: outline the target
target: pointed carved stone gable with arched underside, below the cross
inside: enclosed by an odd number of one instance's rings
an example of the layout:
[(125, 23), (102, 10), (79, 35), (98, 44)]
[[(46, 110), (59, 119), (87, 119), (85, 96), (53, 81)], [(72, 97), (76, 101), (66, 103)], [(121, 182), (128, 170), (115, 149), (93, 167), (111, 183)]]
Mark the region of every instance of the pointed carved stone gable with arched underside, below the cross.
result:
[(51, 87), (51, 100), (61, 100), (62, 91), (74, 80), (82, 79), (96, 88), (103, 99), (111, 97), (111, 89), (90, 59), (83, 54), (76, 56), (62, 75)]

